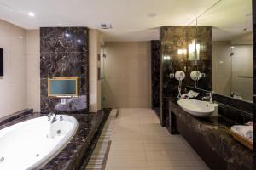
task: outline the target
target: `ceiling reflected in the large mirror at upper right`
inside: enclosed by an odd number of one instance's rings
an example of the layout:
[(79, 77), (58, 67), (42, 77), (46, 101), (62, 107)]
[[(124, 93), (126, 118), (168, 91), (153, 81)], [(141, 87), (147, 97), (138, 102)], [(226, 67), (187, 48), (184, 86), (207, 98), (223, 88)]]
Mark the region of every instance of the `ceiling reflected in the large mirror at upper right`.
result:
[(213, 41), (232, 41), (239, 37), (247, 37), (247, 41), (253, 41), (252, 18), (252, 0), (222, 0), (202, 14), (197, 24), (213, 26)]

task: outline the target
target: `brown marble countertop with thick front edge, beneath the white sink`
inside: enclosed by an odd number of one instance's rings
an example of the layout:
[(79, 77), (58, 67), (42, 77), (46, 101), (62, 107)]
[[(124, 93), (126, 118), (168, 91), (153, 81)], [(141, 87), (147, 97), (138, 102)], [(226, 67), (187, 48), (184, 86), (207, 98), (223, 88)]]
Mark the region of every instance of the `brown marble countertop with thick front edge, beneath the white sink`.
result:
[(229, 169), (232, 169), (235, 164), (243, 169), (253, 169), (253, 151), (230, 135), (230, 127), (238, 123), (221, 115), (207, 118), (192, 116), (177, 105), (176, 99), (167, 99), (171, 101), (172, 111), (177, 118), (196, 133), (201, 133), (202, 140), (205, 140), (212, 150), (218, 152), (218, 155), (230, 164)]

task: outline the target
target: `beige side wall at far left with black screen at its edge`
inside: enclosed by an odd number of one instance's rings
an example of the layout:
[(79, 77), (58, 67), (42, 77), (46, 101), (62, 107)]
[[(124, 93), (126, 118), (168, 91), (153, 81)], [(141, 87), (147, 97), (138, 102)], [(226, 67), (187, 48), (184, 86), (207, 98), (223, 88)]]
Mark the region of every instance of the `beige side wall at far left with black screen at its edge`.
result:
[(0, 117), (26, 109), (26, 30), (0, 20), (4, 76), (0, 77)]

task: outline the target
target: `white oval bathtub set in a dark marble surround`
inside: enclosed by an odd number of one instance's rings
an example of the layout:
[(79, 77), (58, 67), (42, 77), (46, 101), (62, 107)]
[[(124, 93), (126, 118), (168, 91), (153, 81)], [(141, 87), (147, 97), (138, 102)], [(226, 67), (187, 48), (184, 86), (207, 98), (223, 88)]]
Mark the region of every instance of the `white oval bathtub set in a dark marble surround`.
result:
[(0, 169), (34, 170), (43, 167), (56, 156), (78, 128), (78, 122), (73, 116), (58, 115), (56, 118), (51, 128), (54, 138), (49, 138), (50, 122), (47, 116), (0, 130)]

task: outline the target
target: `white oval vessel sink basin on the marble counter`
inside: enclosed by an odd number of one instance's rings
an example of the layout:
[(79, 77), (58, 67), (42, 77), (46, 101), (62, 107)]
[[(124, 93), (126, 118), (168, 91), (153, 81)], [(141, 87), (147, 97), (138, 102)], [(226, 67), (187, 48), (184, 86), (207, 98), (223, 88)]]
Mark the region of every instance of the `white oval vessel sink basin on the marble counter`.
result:
[(177, 104), (193, 116), (206, 117), (212, 115), (214, 106), (207, 101), (197, 99), (180, 99)]

